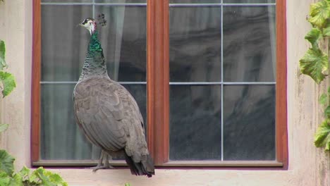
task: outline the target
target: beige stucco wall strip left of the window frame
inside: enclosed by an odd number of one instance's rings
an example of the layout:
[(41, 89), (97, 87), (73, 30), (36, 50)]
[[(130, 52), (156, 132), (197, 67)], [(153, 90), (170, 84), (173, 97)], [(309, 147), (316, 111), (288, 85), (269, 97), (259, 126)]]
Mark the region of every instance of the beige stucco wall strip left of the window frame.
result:
[(0, 99), (1, 123), (10, 124), (0, 138), (0, 145), (16, 157), (18, 167), (30, 164), (31, 2), (0, 2), (0, 39), (6, 43), (8, 71), (17, 82), (15, 91)]

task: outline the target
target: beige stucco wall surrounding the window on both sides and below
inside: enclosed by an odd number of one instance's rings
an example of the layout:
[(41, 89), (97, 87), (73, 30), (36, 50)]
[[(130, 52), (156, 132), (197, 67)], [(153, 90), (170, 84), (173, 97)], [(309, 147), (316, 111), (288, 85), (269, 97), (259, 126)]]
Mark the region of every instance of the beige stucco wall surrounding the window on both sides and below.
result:
[[(32, 0), (0, 3), (0, 39), (7, 44), (7, 62), (17, 89), (1, 102), (1, 121), (11, 127), (1, 147), (16, 156), (16, 167), (30, 165), (30, 84)], [(310, 25), (305, 18), (311, 0), (287, 0), (288, 21), (288, 171), (221, 171), (157, 169), (153, 178), (130, 175), (126, 169), (92, 173), (85, 169), (54, 169), (69, 185), (330, 185), (330, 154), (317, 149), (313, 135), (319, 123), (320, 89), (300, 76), (299, 58), (308, 47), (303, 39)], [(329, 82), (327, 82), (329, 85)]]

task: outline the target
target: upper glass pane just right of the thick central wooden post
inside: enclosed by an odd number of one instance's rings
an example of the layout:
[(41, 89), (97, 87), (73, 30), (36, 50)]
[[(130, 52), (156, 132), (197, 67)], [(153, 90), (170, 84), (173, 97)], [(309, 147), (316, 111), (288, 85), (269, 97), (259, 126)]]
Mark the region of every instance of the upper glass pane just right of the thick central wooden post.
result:
[(170, 8), (170, 80), (221, 81), (221, 8)]

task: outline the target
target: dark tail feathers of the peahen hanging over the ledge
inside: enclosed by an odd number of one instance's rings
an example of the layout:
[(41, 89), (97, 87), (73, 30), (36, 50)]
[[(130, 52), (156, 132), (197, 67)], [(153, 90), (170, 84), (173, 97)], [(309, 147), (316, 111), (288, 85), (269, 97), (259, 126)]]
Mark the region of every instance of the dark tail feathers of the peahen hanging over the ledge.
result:
[(134, 162), (132, 157), (128, 156), (125, 153), (126, 163), (130, 167), (130, 173), (133, 175), (147, 175), (148, 178), (151, 178), (154, 175), (154, 162), (150, 155), (147, 156), (147, 161)]

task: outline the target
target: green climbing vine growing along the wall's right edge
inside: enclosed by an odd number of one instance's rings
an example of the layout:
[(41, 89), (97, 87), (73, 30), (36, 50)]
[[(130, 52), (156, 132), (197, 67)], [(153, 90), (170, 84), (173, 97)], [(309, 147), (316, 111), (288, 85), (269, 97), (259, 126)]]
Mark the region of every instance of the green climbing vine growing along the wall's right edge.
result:
[[(312, 29), (305, 39), (311, 46), (300, 59), (300, 71), (320, 84), (324, 80), (329, 81), (330, 0), (311, 4), (307, 21), (312, 24)], [(315, 133), (314, 144), (330, 151), (330, 87), (319, 98), (319, 103), (324, 106), (324, 121)]]

